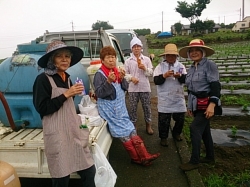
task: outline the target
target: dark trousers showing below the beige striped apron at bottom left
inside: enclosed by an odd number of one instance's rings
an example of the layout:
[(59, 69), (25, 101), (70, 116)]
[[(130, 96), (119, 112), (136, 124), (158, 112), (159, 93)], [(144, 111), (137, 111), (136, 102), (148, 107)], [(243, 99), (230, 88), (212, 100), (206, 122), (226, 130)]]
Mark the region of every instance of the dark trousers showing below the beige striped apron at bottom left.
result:
[[(82, 187), (95, 187), (95, 172), (95, 165), (77, 172), (81, 177)], [(69, 175), (62, 178), (52, 178), (52, 187), (68, 187), (69, 179)]]

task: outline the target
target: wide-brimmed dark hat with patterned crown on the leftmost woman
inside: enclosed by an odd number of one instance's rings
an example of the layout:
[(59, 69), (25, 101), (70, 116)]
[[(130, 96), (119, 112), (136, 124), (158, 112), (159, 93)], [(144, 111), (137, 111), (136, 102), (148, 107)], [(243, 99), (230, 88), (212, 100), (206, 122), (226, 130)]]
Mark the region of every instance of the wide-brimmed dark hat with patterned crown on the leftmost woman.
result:
[(73, 66), (76, 63), (78, 63), (83, 57), (83, 51), (79, 47), (67, 46), (64, 42), (57, 40), (57, 41), (51, 42), (48, 45), (46, 49), (46, 54), (43, 55), (38, 60), (38, 65), (42, 68), (46, 68), (50, 56), (53, 54), (53, 52), (55, 52), (58, 49), (68, 49), (71, 52), (72, 56), (71, 56), (70, 66)]

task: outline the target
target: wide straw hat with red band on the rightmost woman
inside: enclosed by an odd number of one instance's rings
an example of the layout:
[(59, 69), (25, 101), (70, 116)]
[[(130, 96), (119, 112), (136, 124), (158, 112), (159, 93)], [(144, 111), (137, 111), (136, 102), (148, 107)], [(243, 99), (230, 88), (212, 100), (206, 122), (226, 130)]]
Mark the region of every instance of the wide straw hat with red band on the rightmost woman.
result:
[(211, 56), (211, 55), (214, 54), (214, 50), (212, 48), (208, 47), (208, 46), (205, 46), (205, 43), (204, 43), (203, 40), (194, 39), (189, 43), (188, 46), (183, 47), (183, 48), (180, 49), (180, 51), (179, 51), (180, 56), (183, 57), (183, 58), (188, 58), (188, 51), (189, 51), (189, 49), (191, 47), (200, 47), (200, 48), (202, 48), (206, 53), (206, 55), (205, 55), (206, 57)]

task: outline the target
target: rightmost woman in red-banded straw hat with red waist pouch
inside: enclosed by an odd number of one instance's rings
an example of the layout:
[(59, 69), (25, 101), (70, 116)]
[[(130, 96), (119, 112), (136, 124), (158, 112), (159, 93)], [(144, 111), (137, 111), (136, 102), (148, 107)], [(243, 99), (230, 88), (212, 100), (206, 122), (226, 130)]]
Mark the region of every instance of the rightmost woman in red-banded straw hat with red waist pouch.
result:
[[(192, 40), (188, 46), (180, 49), (183, 58), (190, 58), (193, 64), (188, 69), (185, 83), (188, 89), (187, 113), (194, 119), (190, 125), (192, 154), (188, 163), (180, 165), (183, 171), (198, 168), (199, 163), (214, 163), (213, 139), (210, 131), (210, 118), (220, 105), (219, 71), (216, 64), (207, 59), (214, 50), (200, 39)], [(201, 140), (206, 148), (206, 157), (200, 158)]]

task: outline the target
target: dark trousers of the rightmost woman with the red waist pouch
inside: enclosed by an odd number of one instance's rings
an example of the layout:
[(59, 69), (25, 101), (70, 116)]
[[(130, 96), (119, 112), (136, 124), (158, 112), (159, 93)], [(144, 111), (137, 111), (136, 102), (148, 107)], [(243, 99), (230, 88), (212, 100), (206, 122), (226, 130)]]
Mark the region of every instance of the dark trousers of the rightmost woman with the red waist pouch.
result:
[(194, 120), (190, 125), (190, 138), (192, 143), (191, 163), (199, 163), (201, 140), (203, 140), (206, 148), (206, 157), (214, 159), (214, 145), (210, 130), (210, 120), (205, 117), (204, 111), (194, 113)]

